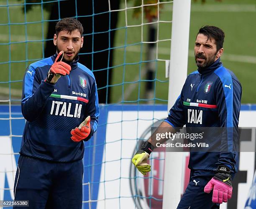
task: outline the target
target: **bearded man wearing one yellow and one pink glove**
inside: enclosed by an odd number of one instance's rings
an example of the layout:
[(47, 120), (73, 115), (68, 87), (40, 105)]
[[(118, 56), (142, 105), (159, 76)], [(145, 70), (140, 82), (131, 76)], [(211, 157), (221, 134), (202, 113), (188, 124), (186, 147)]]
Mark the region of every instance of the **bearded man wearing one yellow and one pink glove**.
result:
[[(180, 96), (159, 126), (172, 133), (184, 125), (226, 130), (217, 137), (212, 133), (209, 135), (210, 139), (214, 137), (213, 145), (218, 152), (190, 152), (189, 184), (178, 209), (218, 209), (232, 196), (231, 179), (238, 171), (236, 148), (242, 87), (233, 72), (220, 62), (224, 37), (224, 32), (218, 27), (200, 28), (194, 47), (198, 69), (188, 75)], [(161, 132), (160, 128), (156, 132)], [(156, 141), (151, 137), (134, 155), (132, 162), (142, 174), (150, 171), (147, 159), (156, 142), (164, 141), (166, 139)], [(216, 146), (219, 144), (227, 149)]]

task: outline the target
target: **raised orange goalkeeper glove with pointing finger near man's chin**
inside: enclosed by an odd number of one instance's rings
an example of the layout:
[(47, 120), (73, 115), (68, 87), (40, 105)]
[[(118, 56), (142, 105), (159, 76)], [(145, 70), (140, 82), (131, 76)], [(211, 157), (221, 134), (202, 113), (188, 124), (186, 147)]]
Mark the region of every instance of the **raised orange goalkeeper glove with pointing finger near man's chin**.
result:
[[(60, 56), (62, 55), (60, 61), (58, 62)], [(67, 64), (66, 62), (62, 62), (62, 58), (64, 55), (64, 51), (59, 52), (58, 56), (55, 59), (55, 62), (53, 65), (51, 65), (51, 68), (47, 74), (46, 82), (48, 83), (56, 83), (61, 75), (69, 75), (69, 72), (71, 70), (71, 66)]]

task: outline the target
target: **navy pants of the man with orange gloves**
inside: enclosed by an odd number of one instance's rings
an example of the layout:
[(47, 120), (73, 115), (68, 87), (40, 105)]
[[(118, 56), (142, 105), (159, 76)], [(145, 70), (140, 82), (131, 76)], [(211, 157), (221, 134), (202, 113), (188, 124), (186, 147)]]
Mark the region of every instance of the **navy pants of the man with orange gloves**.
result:
[(82, 159), (58, 163), (20, 155), (15, 200), (28, 200), (26, 209), (81, 209), (83, 169)]

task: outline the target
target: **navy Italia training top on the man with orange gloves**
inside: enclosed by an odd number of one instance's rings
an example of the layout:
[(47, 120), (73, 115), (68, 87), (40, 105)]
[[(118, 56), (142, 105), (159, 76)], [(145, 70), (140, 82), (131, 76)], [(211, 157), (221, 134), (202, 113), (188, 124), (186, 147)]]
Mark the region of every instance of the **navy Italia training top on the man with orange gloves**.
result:
[[(99, 105), (93, 73), (78, 62), (56, 84), (44, 80), (56, 54), (29, 65), (23, 79), (21, 110), (27, 120), (20, 154), (54, 162), (84, 156), (84, 142), (73, 142), (70, 131), (90, 115), (91, 136), (97, 130)], [(90, 137), (91, 137), (90, 136)]]

